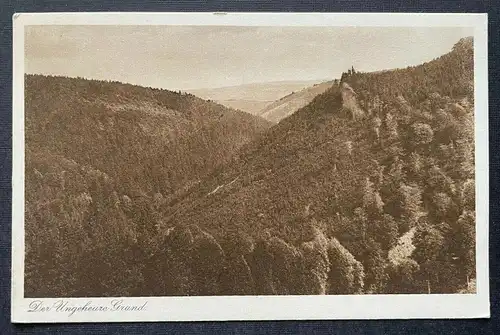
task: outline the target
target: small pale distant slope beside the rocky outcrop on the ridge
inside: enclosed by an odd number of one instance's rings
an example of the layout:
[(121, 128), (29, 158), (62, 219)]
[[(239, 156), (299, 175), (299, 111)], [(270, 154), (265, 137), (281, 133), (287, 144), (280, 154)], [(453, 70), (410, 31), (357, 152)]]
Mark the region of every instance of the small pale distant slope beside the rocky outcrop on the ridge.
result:
[(300, 91), (290, 93), (279, 100), (268, 104), (261, 109), (257, 115), (271, 122), (279, 122), (281, 119), (291, 115), (296, 110), (304, 107), (314, 99), (315, 96), (325, 92), (333, 85), (333, 81), (314, 84)]

